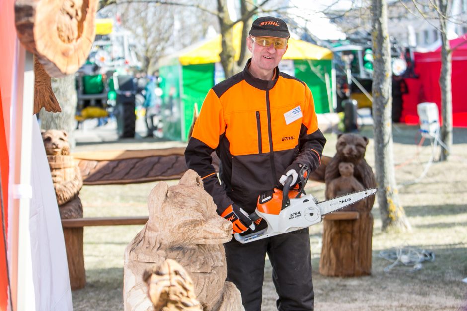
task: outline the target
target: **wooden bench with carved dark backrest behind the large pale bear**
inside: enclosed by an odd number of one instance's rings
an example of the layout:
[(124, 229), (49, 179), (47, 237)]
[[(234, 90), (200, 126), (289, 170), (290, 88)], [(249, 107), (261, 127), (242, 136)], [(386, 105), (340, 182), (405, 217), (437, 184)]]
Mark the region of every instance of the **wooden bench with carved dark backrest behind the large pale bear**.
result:
[[(84, 185), (110, 185), (180, 179), (187, 170), (185, 148), (113, 150), (72, 153)], [(215, 161), (217, 168), (217, 161)], [(86, 283), (83, 233), (86, 226), (144, 225), (148, 216), (84, 217), (62, 219), (70, 284)]]

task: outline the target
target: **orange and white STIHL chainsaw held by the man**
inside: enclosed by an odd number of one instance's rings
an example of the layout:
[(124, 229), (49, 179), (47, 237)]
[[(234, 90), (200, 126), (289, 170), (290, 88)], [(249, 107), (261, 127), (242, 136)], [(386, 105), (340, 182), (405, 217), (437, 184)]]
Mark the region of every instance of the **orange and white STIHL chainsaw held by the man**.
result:
[(249, 243), (270, 236), (288, 233), (320, 223), (323, 218), (343, 207), (376, 193), (376, 188), (353, 192), (330, 200), (318, 202), (311, 194), (305, 194), (304, 187), (308, 180), (307, 167), (304, 165), (299, 173), (301, 186), (290, 189), (292, 176), (287, 177), (284, 188), (274, 188), (258, 197), (256, 210), (249, 215), (255, 224), (262, 220), (267, 227), (253, 233), (235, 233), (240, 243)]

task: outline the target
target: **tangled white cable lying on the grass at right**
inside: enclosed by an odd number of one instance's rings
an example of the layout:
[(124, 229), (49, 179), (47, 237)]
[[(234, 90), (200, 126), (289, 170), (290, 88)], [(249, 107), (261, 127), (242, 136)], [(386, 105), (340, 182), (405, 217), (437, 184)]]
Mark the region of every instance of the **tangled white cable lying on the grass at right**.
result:
[[(389, 273), (390, 271), (415, 272), (423, 267), (423, 261), (435, 261), (434, 252), (413, 247), (382, 250), (378, 254), (378, 257), (392, 262), (389, 266), (383, 269), (386, 273)], [(398, 269), (394, 269), (397, 265), (402, 266)]]

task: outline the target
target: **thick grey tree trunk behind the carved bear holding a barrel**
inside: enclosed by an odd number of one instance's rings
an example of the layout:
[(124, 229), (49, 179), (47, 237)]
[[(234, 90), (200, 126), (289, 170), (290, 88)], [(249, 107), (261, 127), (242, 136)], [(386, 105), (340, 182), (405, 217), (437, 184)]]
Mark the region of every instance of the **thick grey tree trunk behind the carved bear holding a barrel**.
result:
[(39, 118), (43, 130), (64, 130), (68, 133), (70, 147), (75, 146), (73, 130), (75, 129), (75, 111), (77, 95), (75, 89), (75, 75), (68, 75), (65, 78), (52, 78), (52, 90), (59, 102), (61, 113), (47, 112), (41, 109)]

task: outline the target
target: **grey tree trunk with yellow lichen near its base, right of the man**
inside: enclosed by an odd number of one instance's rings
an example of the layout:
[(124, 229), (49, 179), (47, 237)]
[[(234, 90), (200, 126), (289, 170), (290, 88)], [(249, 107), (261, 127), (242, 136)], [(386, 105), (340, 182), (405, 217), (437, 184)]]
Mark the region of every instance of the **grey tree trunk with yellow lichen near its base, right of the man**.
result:
[(376, 181), (382, 230), (389, 227), (410, 230), (404, 208), (399, 202), (395, 182), (392, 148), (392, 97), (391, 57), (388, 35), (388, 11), (386, 0), (372, 1), (372, 45), (373, 45), (373, 131), (375, 137)]

